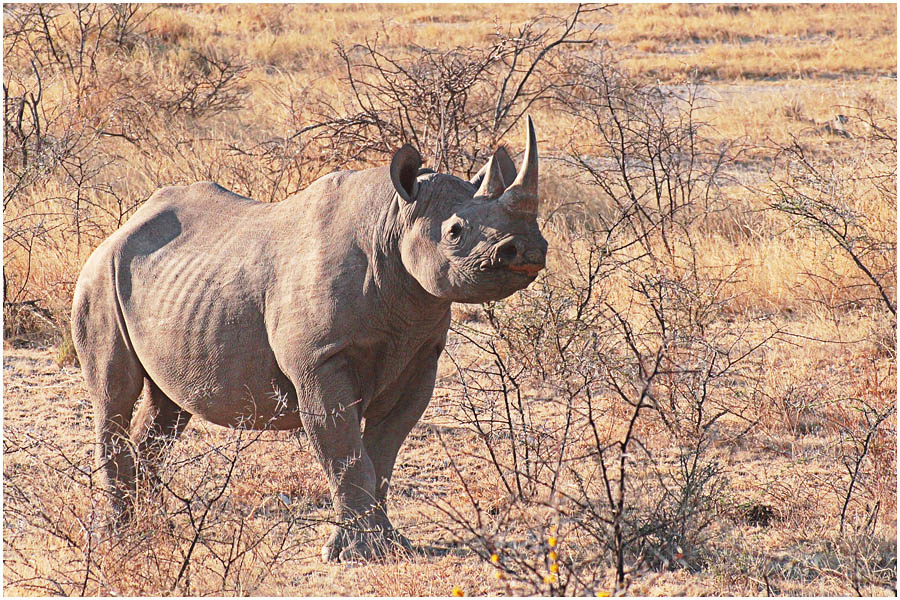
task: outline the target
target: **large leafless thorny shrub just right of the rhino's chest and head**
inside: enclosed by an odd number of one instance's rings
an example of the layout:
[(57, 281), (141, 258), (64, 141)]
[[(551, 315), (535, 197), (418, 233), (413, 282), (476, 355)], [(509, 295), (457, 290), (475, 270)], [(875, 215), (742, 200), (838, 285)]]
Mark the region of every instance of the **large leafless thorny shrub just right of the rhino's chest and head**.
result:
[(777, 334), (734, 325), (739, 270), (697, 255), (733, 153), (706, 141), (694, 90), (588, 61), (571, 81), (558, 107), (596, 145), (571, 149), (592, 195), (569, 210), (590, 217), (557, 210), (552, 272), (453, 329), (484, 356), (457, 364), (455, 393), (508, 500), (442, 507), (504, 577), (564, 595), (600, 591), (609, 567), (624, 591), (641, 569), (705, 564), (726, 489), (714, 447), (752, 425), (756, 351)]

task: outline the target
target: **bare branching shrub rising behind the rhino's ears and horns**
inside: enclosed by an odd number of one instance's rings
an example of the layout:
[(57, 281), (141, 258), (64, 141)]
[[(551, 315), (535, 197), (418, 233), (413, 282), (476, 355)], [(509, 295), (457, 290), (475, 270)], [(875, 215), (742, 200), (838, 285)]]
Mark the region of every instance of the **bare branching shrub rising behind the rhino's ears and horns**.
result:
[[(471, 175), (553, 86), (547, 63), (565, 46), (592, 44), (580, 19), (602, 7), (579, 5), (565, 19), (538, 16), (516, 31), (498, 27), (484, 48), (418, 48), (412, 58), (379, 49), (377, 38), (337, 44), (352, 90), (347, 106), (322, 100), (320, 135), (354, 161), (415, 145), (435, 169)], [(549, 72), (551, 69), (547, 69)]]

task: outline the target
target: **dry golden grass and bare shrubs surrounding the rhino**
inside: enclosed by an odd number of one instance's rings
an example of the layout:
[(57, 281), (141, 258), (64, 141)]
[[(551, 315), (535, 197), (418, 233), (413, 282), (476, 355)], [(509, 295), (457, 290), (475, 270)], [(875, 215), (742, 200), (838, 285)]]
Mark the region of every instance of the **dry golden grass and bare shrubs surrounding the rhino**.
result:
[[(4, 592), (895, 594), (896, 18), (6, 5)], [(321, 564), (302, 434), (199, 423), (108, 537), (91, 250), (162, 185), (278, 201), (408, 140), (468, 175), (526, 112), (549, 264), (455, 309), (389, 499), (421, 553)]]

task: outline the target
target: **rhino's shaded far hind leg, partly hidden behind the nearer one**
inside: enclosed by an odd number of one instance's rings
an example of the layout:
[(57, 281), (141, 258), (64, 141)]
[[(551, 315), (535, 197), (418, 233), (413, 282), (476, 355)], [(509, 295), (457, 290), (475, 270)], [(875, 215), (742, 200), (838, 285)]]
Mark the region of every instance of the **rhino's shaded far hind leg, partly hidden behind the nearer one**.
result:
[(131, 440), (137, 450), (138, 474), (155, 490), (156, 467), (168, 445), (184, 431), (191, 413), (172, 402), (151, 379), (144, 381), (144, 398), (131, 421)]

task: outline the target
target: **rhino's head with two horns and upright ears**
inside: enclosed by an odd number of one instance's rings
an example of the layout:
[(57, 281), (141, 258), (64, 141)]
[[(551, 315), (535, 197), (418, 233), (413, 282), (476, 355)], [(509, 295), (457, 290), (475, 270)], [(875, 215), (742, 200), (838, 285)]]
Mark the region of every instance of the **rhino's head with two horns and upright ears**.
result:
[(421, 157), (404, 146), (391, 161), (405, 226), (406, 270), (430, 294), (453, 302), (505, 298), (544, 268), (547, 240), (537, 224), (538, 156), (528, 118), (525, 158), (516, 173), (499, 148), (471, 180), (419, 174)]

